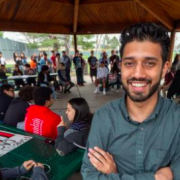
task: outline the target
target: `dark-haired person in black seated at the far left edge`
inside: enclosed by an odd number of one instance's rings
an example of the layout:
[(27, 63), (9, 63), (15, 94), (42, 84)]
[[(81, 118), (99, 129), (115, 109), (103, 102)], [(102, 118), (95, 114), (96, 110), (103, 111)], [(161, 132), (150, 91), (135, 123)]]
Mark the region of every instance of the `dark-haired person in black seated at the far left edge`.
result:
[(14, 98), (14, 88), (10, 84), (0, 87), (0, 121), (4, 120), (6, 111)]

